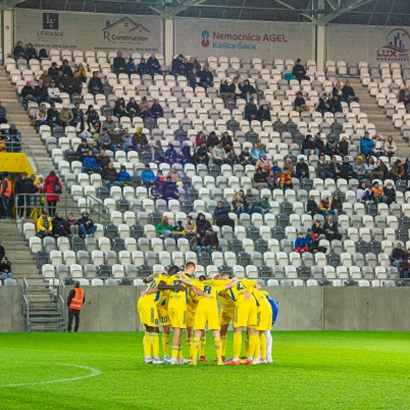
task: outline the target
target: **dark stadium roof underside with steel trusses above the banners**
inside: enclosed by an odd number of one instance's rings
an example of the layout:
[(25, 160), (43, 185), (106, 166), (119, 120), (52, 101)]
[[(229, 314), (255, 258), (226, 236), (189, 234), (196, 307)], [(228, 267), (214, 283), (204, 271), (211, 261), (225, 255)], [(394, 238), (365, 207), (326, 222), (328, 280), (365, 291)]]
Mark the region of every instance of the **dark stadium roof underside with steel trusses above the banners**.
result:
[(409, 0), (3, 0), (6, 8), (408, 26)]

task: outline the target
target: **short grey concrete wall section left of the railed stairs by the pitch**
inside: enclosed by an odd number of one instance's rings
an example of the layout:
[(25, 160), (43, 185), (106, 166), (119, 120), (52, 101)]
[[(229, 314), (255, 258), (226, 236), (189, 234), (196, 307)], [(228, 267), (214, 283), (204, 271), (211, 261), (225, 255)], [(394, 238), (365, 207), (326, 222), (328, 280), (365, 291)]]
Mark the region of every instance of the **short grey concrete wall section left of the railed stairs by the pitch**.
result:
[(20, 286), (0, 286), (0, 332), (24, 332), (22, 300)]

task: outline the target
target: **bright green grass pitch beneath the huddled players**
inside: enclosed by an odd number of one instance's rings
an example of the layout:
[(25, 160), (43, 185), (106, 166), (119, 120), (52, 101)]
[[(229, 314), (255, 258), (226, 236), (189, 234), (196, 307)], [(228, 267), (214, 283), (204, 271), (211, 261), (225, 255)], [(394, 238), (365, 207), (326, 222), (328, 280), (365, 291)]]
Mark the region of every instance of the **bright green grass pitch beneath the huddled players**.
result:
[[(192, 367), (142, 364), (141, 333), (1, 334), (0, 408), (410, 409), (409, 333), (273, 336), (274, 364)], [(211, 335), (207, 356), (214, 358)], [(101, 374), (5, 386), (90, 374), (56, 363)]]

